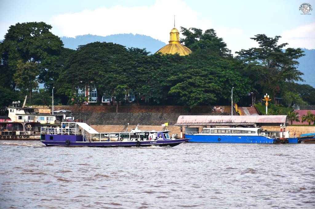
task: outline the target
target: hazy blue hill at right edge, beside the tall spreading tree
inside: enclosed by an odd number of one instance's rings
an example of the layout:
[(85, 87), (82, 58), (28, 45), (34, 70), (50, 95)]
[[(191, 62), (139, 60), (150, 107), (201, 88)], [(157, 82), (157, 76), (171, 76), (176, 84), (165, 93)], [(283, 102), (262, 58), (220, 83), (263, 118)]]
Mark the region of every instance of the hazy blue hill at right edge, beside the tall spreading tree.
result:
[(298, 59), (300, 62), (300, 65), (298, 66), (298, 69), (304, 73), (302, 78), (306, 82), (298, 82), (301, 84), (309, 84), (312, 87), (315, 87), (315, 49), (306, 49), (302, 48), (304, 51), (305, 56)]

